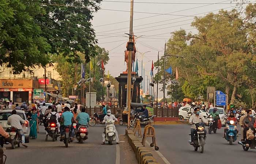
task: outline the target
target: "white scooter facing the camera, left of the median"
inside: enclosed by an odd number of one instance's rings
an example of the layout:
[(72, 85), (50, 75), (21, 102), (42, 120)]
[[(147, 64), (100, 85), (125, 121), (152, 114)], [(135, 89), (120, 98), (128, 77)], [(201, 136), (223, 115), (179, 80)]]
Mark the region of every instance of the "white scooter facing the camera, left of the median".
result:
[(113, 141), (116, 141), (116, 126), (114, 122), (114, 120), (106, 121), (105, 140), (109, 142), (109, 145), (112, 145)]

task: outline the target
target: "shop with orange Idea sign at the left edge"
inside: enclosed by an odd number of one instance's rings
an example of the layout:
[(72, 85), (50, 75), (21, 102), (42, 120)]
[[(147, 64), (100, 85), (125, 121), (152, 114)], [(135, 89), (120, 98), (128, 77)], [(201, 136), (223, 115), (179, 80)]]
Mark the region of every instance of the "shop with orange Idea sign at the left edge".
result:
[(33, 89), (37, 88), (38, 81), (33, 79), (0, 79), (0, 98), (31, 104)]

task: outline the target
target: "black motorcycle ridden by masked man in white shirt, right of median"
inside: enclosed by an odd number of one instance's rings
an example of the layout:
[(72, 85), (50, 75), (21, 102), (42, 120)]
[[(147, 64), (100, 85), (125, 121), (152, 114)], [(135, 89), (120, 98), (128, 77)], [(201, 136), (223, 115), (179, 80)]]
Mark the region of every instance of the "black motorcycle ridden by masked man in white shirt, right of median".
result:
[[(204, 152), (204, 141), (206, 140), (206, 136), (204, 136), (204, 123), (203, 122), (199, 122), (196, 123), (196, 129), (195, 129), (195, 133), (193, 138), (193, 144), (192, 142), (189, 140), (189, 144), (192, 145), (194, 147), (194, 150), (197, 151), (198, 148), (200, 150), (200, 153)], [(189, 134), (191, 135), (191, 134)]]

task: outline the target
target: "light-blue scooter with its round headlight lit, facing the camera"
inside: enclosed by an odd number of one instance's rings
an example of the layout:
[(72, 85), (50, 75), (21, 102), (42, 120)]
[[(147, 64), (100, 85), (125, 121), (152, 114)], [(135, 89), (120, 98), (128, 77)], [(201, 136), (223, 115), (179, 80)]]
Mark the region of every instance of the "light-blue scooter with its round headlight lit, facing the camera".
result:
[(229, 142), (230, 145), (233, 144), (237, 140), (237, 126), (233, 120), (227, 121), (227, 131), (226, 131), (226, 140)]

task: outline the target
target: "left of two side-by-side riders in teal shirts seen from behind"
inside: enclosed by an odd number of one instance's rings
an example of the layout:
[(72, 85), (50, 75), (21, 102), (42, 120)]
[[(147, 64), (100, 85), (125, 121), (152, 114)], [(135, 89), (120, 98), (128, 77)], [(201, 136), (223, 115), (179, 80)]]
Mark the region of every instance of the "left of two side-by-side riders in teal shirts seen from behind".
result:
[(60, 122), (63, 122), (63, 125), (61, 125), (60, 127), (60, 141), (63, 141), (64, 139), (64, 128), (65, 126), (70, 126), (71, 128), (71, 140), (73, 140), (74, 137), (74, 126), (71, 126), (75, 120), (74, 120), (74, 116), (73, 113), (69, 112), (69, 108), (66, 106), (64, 108), (64, 113), (62, 113), (61, 117), (60, 117)]

